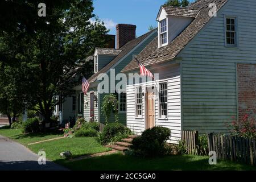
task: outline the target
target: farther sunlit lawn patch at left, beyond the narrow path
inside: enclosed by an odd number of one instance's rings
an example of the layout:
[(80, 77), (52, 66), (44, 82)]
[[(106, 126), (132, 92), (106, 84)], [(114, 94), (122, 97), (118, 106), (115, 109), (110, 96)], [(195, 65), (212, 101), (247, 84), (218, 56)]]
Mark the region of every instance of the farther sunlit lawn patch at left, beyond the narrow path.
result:
[(38, 133), (38, 134), (22, 134), (21, 129), (1, 129), (0, 135), (8, 137), (15, 140), (21, 144), (27, 145), (28, 143), (39, 142), (42, 140), (47, 140), (51, 138), (63, 137), (63, 134), (58, 134), (56, 132)]

